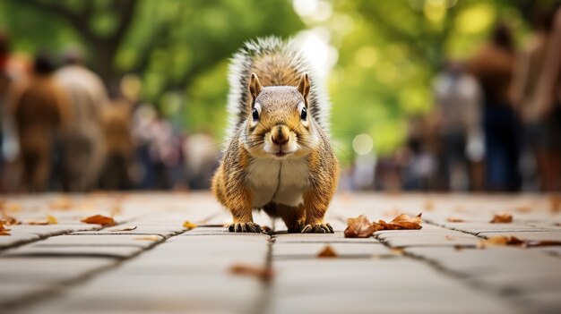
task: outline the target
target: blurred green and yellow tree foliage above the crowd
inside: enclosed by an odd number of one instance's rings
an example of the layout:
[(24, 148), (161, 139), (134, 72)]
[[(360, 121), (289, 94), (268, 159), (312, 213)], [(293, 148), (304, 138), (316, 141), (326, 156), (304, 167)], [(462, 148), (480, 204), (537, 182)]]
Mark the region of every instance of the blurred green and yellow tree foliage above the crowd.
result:
[[(342, 155), (350, 156), (359, 133), (374, 139), (377, 153), (397, 148), (408, 119), (430, 111), (432, 79), (444, 59), (470, 57), (498, 19), (509, 21), (521, 38), (527, 30), (523, 14), (537, 2), (329, 4), (331, 16), (308, 21), (289, 0), (4, 0), (0, 30), (9, 31), (16, 50), (29, 53), (78, 45), (109, 83), (134, 73), (142, 81), (142, 101), (187, 132), (219, 138), (226, 123), (228, 58), (242, 42), (286, 38), (305, 28), (330, 30), (339, 53), (328, 79), (332, 133)], [(130, 21), (127, 12), (134, 13)]]

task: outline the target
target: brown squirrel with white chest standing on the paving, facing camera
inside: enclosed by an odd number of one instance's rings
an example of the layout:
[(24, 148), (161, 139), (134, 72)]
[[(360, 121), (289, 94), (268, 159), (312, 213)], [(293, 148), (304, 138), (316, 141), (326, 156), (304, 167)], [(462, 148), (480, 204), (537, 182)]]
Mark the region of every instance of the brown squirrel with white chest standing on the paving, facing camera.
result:
[(333, 233), (324, 222), (339, 162), (329, 140), (330, 102), (290, 41), (246, 42), (229, 66), (227, 145), (211, 191), (229, 209), (230, 232), (262, 233), (253, 210), (289, 233)]

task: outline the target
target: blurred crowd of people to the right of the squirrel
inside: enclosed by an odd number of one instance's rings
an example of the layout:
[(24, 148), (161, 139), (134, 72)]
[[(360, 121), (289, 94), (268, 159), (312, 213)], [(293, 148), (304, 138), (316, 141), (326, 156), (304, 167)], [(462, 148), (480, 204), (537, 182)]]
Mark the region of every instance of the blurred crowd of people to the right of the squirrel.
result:
[(358, 188), (561, 191), (561, 11), (535, 14), (520, 47), (505, 22), (467, 60), (447, 60), (434, 110)]

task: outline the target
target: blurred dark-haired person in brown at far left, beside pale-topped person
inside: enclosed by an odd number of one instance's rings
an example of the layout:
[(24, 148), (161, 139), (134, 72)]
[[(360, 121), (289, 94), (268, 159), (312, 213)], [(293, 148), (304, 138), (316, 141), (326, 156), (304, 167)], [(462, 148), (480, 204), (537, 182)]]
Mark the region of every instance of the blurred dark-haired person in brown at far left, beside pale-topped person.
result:
[(30, 81), (18, 86), (11, 115), (19, 136), (24, 191), (44, 191), (56, 157), (57, 141), (71, 117), (65, 90), (56, 82), (55, 66), (48, 55), (39, 54)]

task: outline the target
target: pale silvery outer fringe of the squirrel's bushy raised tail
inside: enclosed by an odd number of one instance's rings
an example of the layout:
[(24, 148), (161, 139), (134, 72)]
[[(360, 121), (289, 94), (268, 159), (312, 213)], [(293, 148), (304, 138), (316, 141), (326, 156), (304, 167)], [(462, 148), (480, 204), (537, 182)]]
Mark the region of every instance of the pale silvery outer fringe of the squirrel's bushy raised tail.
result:
[[(322, 82), (315, 77), (311, 64), (306, 60), (298, 47), (291, 41), (283, 41), (277, 37), (256, 38), (247, 41), (231, 60), (229, 66), (229, 130), (226, 134), (232, 136), (239, 126), (244, 123), (249, 113), (249, 78), (252, 65), (256, 58), (263, 55), (282, 55), (289, 60), (289, 66), (296, 77), (288, 81), (297, 81), (303, 73), (310, 78), (310, 93), (308, 103), (310, 115), (324, 129), (329, 132), (329, 113), (331, 104), (325, 94)], [(289, 72), (289, 71), (287, 71)]]

